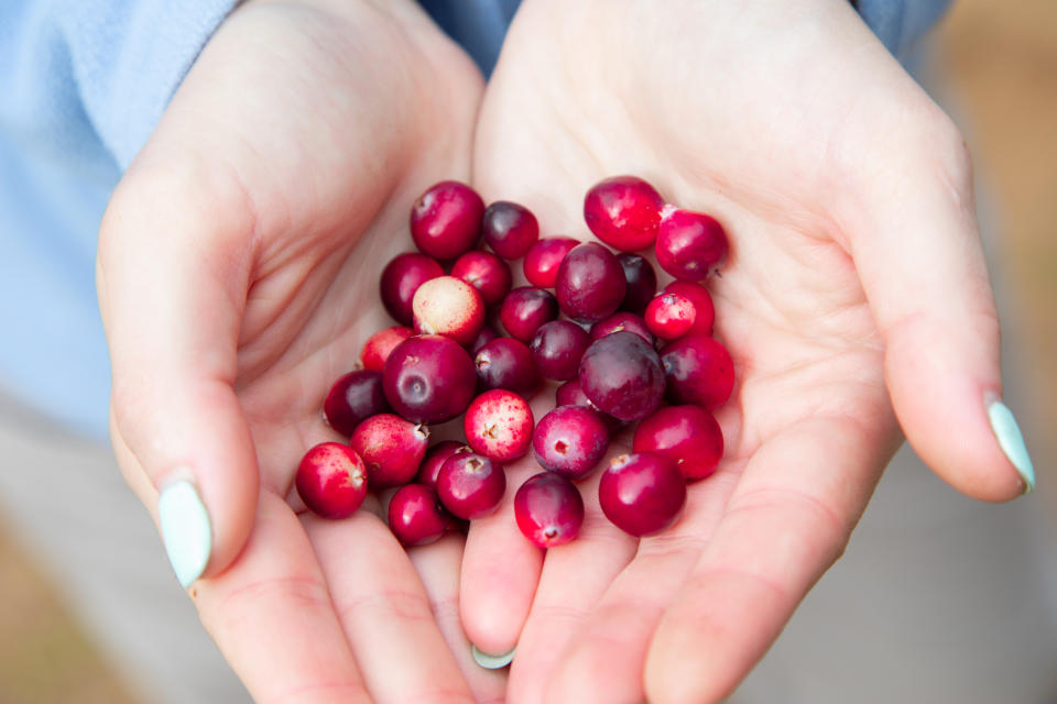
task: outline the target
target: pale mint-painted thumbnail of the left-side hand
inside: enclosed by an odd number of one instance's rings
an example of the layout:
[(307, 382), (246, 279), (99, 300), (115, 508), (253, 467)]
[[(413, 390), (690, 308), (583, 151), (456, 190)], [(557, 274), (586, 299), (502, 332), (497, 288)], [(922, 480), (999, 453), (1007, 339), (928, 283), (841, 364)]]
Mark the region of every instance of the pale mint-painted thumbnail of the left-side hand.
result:
[(157, 497), (157, 517), (168, 562), (187, 588), (206, 570), (213, 550), (209, 514), (195, 485), (182, 480), (166, 486)]

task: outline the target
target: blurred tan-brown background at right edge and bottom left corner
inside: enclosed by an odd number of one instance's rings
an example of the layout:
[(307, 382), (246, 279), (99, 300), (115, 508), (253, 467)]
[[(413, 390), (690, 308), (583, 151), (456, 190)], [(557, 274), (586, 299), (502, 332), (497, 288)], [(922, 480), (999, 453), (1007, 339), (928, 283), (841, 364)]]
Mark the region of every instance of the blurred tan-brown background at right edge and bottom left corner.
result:
[[(933, 40), (929, 73), (966, 134), (981, 211), (998, 230), (991, 264), (1005, 324), (1025, 345), (1014, 410), (1039, 475), (1033, 501), (1057, 517), (1047, 481), (1057, 458), (1057, 2), (957, 0)], [(0, 704), (135, 702), (58, 594), (0, 514)]]

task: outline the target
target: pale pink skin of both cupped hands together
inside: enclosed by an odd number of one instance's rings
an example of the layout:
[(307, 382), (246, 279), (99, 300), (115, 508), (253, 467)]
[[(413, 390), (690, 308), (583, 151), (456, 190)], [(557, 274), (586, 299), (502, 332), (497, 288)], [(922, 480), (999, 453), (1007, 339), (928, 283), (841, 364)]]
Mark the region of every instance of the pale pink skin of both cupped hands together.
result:
[[(846, 2), (528, 0), (479, 114), (480, 77), (411, 4), (296, 4), (210, 42), (99, 253), (122, 470), (153, 507), (194, 469), (216, 547), (192, 593), (260, 701), (719, 701), (839, 557), (901, 427), (957, 490), (1021, 493), (984, 410), (999, 328), (961, 139)], [(293, 468), (386, 324), (414, 197), (470, 179), (586, 238), (582, 194), (625, 173), (731, 238), (709, 284), (727, 453), (682, 519), (620, 534), (597, 475), (582, 537), (545, 559), (510, 496), (465, 553), (411, 560), (370, 512), (298, 519)], [(509, 683), (467, 636), (517, 645)]]

